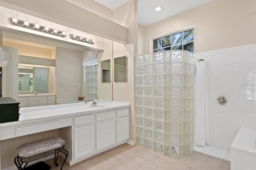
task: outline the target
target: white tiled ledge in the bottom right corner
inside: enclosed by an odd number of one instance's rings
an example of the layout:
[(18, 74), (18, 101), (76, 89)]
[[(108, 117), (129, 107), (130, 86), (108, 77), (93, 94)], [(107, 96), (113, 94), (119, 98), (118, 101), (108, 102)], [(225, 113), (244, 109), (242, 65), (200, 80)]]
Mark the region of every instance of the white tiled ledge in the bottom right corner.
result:
[(231, 170), (256, 170), (256, 129), (241, 127), (231, 144)]

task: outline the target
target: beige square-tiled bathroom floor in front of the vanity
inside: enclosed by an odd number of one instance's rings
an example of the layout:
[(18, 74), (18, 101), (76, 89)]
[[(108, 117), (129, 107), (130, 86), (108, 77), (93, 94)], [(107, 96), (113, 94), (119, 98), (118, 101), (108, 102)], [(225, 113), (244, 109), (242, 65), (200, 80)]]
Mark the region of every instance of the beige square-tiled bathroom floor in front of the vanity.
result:
[[(53, 159), (45, 161), (59, 170)], [(230, 170), (230, 161), (193, 151), (186, 157), (165, 157), (139, 146), (122, 144), (63, 170)]]

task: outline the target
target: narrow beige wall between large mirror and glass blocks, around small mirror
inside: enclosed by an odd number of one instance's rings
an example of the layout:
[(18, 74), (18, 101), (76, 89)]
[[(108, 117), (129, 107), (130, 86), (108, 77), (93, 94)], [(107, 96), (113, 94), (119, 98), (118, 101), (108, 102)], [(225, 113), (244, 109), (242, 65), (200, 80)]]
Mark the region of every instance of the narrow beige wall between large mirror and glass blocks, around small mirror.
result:
[[(128, 43), (113, 42), (113, 58), (127, 56), (127, 82), (113, 82), (113, 100), (130, 102), (130, 140), (134, 140), (134, 56), (137, 45), (137, 0), (129, 0), (113, 13), (113, 21), (128, 28)], [(113, 61), (112, 61), (113, 63)], [(113, 75), (113, 74), (112, 74)]]

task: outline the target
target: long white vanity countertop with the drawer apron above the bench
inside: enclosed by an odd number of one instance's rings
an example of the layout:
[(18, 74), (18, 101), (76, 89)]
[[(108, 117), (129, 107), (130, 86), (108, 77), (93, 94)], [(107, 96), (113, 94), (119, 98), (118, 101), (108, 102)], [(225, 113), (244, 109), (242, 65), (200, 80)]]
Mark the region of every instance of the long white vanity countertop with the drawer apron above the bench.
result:
[(97, 106), (91, 104), (69, 103), (21, 108), (19, 121), (0, 123), (0, 140), (73, 126), (74, 117), (130, 107), (130, 103), (118, 101), (98, 102)]

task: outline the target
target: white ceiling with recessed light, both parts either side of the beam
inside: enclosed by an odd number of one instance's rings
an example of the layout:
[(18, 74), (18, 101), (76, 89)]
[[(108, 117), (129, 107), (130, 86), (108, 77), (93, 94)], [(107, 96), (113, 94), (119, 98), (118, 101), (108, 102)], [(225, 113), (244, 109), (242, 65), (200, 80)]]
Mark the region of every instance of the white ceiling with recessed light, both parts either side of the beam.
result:
[[(112, 10), (128, 2), (128, 0), (94, 1)], [(138, 0), (138, 23), (147, 26), (211, 1), (213, 0)], [(76, 1), (72, 3), (76, 4)], [(162, 6), (163, 9), (156, 12), (154, 10), (156, 6)]]

